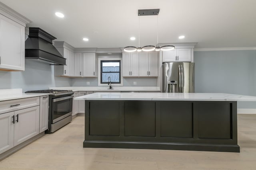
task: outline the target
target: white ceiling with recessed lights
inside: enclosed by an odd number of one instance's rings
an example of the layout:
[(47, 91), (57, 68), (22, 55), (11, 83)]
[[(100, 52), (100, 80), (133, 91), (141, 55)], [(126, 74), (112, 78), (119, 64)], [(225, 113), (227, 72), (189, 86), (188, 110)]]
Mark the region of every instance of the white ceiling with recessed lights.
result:
[[(74, 47), (138, 47), (138, 10), (159, 8), (159, 43), (256, 47), (256, 0), (0, 0)], [(55, 12), (65, 17), (58, 18)], [(178, 39), (185, 35), (184, 39)], [(130, 37), (136, 37), (131, 41)], [(82, 40), (88, 37), (89, 41)], [(156, 45), (157, 16), (140, 16), (140, 46)]]

